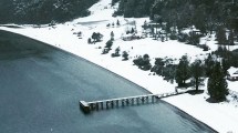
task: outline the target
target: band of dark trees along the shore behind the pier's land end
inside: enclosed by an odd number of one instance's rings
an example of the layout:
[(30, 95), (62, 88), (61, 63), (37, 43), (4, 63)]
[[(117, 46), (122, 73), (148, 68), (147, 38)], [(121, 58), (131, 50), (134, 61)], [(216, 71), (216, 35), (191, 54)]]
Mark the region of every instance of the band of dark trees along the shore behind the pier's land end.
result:
[[(219, 61), (220, 60), (220, 61)], [(176, 64), (173, 59), (157, 58), (154, 65), (151, 64), (148, 54), (137, 57), (133, 60), (139, 69), (158, 74), (172, 83), (177, 83), (178, 88), (194, 86), (194, 93), (199, 93), (199, 86), (204, 85), (204, 79), (208, 78), (207, 90), (213, 101), (226, 100), (228, 84), (226, 82), (227, 61), (221, 61), (215, 53), (208, 54), (205, 60), (196, 59), (190, 62), (187, 55), (179, 59)]]

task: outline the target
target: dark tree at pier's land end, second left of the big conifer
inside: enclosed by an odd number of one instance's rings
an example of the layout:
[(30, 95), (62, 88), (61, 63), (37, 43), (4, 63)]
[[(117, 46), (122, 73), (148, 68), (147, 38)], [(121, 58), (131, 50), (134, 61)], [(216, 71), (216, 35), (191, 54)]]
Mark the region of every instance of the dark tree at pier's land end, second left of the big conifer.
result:
[(177, 68), (175, 80), (178, 83), (178, 86), (183, 86), (186, 84), (186, 80), (190, 78), (190, 70), (189, 70), (189, 61), (187, 55), (183, 55)]

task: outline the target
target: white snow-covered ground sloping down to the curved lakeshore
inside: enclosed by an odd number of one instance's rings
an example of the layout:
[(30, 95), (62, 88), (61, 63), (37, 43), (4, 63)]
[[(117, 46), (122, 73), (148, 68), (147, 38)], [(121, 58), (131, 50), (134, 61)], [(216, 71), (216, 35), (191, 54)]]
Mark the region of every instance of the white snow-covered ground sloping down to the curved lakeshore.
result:
[[(136, 29), (139, 32), (142, 31), (141, 25), (145, 20), (148, 21), (148, 18), (113, 18), (112, 13), (114, 12), (116, 6), (111, 7), (110, 3), (111, 0), (101, 0), (90, 9), (92, 16), (80, 18), (63, 24), (56, 24), (54, 27), (45, 25), (42, 28), (34, 28), (32, 25), (19, 25), (21, 28), (14, 29), (0, 27), (0, 29), (20, 33), (72, 52), (110, 71), (113, 71), (131, 80), (132, 82), (137, 83), (152, 93), (174, 92), (177, 84), (172, 84), (164, 81), (162, 76), (153, 75), (148, 71), (137, 69), (137, 66), (133, 65), (133, 59), (135, 57), (147, 53), (152, 59), (152, 64), (154, 64), (155, 58), (169, 57), (173, 59), (179, 59), (182, 55), (187, 54), (188, 57), (192, 57), (192, 60), (194, 60), (196, 58), (203, 58), (206, 53), (217, 49), (213, 38), (210, 41), (206, 42), (211, 48), (208, 52), (204, 52), (201, 49), (194, 45), (170, 40), (161, 42), (146, 38), (142, 40), (123, 41), (121, 40), (121, 37), (123, 33), (125, 34), (125, 30), (127, 29), (126, 22), (135, 20)], [(120, 27), (116, 27), (116, 24), (115, 27), (106, 27), (107, 23), (116, 23), (117, 20), (120, 20)], [(82, 32), (82, 39), (79, 39), (79, 37), (73, 34), (73, 32), (79, 31)], [(112, 47), (113, 50), (108, 54), (101, 54), (102, 49), (99, 48), (105, 47), (105, 42), (111, 39), (110, 33), (112, 31), (115, 34), (115, 41)], [(101, 32), (104, 35), (103, 41), (96, 44), (87, 44), (87, 39), (93, 32)], [(117, 47), (121, 48), (121, 52), (128, 52), (128, 61), (122, 61), (122, 57), (111, 57), (111, 53), (113, 53)], [(232, 47), (230, 49), (237, 48), (238, 47)], [(238, 82), (228, 83), (228, 88), (230, 90), (238, 92)], [(205, 92), (197, 95), (183, 94), (163, 100), (208, 124), (218, 132), (238, 133), (238, 101), (234, 100), (231, 95), (228, 95), (227, 102), (208, 103), (206, 102), (206, 99), (209, 98), (206, 91), (206, 85), (200, 88), (200, 90), (205, 90)]]

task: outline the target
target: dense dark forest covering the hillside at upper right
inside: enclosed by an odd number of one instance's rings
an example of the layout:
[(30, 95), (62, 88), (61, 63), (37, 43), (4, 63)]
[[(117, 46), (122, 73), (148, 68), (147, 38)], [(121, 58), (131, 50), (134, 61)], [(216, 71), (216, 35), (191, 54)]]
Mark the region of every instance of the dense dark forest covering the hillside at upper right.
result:
[(217, 27), (238, 29), (237, 0), (120, 0), (114, 16), (148, 17), (178, 29), (195, 25), (201, 32)]

